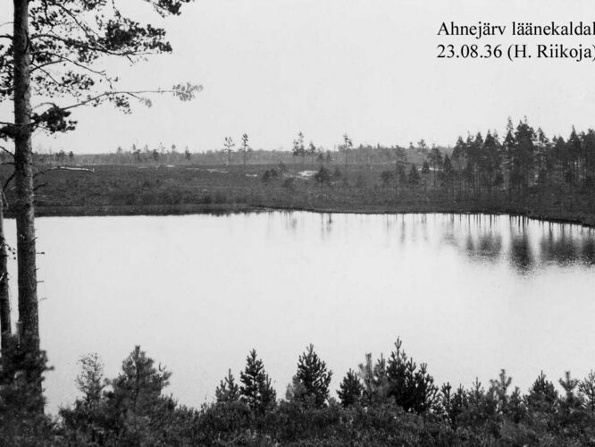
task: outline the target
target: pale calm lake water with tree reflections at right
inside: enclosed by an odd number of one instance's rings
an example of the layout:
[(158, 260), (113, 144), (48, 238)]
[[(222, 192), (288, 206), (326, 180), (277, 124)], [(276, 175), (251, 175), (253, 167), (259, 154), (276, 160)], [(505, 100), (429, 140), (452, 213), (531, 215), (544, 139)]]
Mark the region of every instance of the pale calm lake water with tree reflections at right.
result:
[(398, 336), (438, 383), (485, 384), (506, 368), (526, 390), (541, 370), (557, 380), (595, 367), (595, 232), (581, 226), (305, 212), (37, 226), (50, 411), (76, 397), (81, 355), (98, 352), (113, 377), (135, 344), (194, 406), (252, 348), (283, 396), (311, 342), (333, 390)]

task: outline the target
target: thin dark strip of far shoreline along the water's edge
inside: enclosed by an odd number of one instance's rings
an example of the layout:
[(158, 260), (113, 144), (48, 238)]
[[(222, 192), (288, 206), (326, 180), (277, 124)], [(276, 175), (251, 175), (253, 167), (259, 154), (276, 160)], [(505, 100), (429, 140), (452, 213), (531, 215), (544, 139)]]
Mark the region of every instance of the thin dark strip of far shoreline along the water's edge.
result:
[[(352, 206), (352, 207), (317, 207), (303, 205), (270, 205), (270, 204), (183, 204), (183, 205), (151, 205), (151, 206), (63, 206), (36, 207), (36, 217), (100, 217), (100, 216), (133, 216), (133, 215), (229, 215), (241, 213), (261, 213), (267, 211), (306, 211), (318, 214), (355, 214), (355, 215), (405, 215), (405, 214), (459, 214), (459, 215), (512, 215), (550, 223), (576, 224), (595, 228), (595, 215), (572, 214), (565, 211), (524, 211), (519, 209), (500, 209), (498, 207), (448, 207), (437, 204), (403, 204), (401, 206)], [(14, 218), (10, 211), (4, 215)]]

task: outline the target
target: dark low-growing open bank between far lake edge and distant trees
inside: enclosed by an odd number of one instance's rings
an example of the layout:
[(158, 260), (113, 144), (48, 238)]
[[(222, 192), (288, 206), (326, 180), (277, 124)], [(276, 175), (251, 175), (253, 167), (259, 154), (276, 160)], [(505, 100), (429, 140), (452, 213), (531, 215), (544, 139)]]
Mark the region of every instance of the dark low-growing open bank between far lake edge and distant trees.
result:
[[(247, 166), (95, 165), (93, 172), (50, 171), (38, 178), (39, 216), (188, 215), (266, 209), (322, 213), (485, 213), (595, 225), (589, 194), (540, 190), (523, 198), (505, 191), (473, 195), (456, 188), (390, 184), (390, 165), (327, 166), (331, 177), (317, 181), (318, 165)], [(274, 170), (274, 175), (267, 174)], [(13, 191), (6, 215), (13, 215)]]

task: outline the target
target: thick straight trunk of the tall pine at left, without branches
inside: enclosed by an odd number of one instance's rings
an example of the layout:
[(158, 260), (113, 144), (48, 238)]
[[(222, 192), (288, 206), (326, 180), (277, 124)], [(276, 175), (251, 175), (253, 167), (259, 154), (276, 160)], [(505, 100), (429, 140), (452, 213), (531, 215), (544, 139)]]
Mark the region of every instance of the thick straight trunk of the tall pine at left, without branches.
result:
[(38, 280), (31, 149), (29, 2), (14, 0), (14, 179), (19, 283), (19, 336), (39, 349)]

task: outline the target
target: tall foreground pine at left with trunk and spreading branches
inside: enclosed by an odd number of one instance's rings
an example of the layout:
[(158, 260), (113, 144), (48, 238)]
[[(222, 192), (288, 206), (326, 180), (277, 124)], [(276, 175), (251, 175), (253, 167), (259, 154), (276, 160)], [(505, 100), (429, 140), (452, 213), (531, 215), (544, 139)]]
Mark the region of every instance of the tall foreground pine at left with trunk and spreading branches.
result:
[[(180, 14), (190, 0), (146, 0), (161, 17)], [(0, 140), (14, 143), (19, 336), (32, 355), (39, 350), (38, 276), (35, 233), (33, 137), (72, 131), (78, 107), (111, 102), (130, 112), (130, 101), (150, 105), (149, 93), (171, 93), (189, 100), (200, 86), (171, 89), (118, 89), (118, 77), (105, 71), (105, 59), (135, 63), (150, 54), (171, 53), (165, 30), (127, 16), (105, 0), (13, 0), (13, 30), (2, 34), (0, 101), (13, 102), (14, 116), (0, 122)], [(63, 102), (64, 97), (70, 97)], [(34, 102), (35, 101), (35, 102)], [(71, 102), (72, 101), (72, 102)], [(36, 104), (37, 103), (37, 104)], [(70, 103), (70, 104), (69, 104)], [(62, 156), (62, 154), (61, 154)], [(40, 383), (40, 379), (36, 378)], [(38, 390), (41, 393), (41, 388)], [(39, 411), (43, 411), (40, 408)]]

